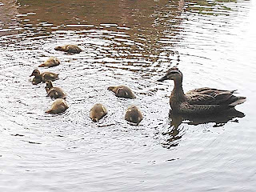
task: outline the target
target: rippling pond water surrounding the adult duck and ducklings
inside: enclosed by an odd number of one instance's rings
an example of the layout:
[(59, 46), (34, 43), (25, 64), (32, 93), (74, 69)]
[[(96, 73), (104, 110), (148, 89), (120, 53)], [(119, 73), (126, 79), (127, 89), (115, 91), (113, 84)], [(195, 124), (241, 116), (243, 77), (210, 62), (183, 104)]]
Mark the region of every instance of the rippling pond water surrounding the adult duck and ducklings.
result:
[[(0, 2), (1, 191), (254, 191), (256, 187), (256, 2), (243, 0)], [(55, 46), (75, 44), (80, 54)], [(54, 86), (70, 108), (45, 114), (50, 98), (30, 74), (50, 56)], [(238, 90), (240, 114), (169, 117), (174, 83), (185, 91)], [(130, 86), (136, 99), (108, 86)], [(92, 122), (101, 102), (106, 118)], [(124, 119), (131, 104), (144, 119)]]

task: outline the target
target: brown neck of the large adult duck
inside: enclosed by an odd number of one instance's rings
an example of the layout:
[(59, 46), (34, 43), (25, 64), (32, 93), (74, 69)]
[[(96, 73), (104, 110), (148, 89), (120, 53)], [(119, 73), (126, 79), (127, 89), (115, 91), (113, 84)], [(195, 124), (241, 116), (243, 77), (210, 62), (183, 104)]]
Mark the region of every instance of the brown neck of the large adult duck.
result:
[(180, 102), (185, 102), (186, 97), (182, 89), (182, 79), (174, 80), (174, 90), (170, 94), (170, 103), (175, 105)]

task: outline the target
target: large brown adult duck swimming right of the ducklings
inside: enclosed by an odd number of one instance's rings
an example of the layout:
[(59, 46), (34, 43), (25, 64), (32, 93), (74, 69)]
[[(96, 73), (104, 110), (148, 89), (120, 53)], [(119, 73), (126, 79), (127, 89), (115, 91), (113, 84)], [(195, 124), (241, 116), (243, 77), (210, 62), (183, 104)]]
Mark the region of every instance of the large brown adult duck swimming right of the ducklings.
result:
[(246, 101), (246, 97), (234, 96), (235, 90), (218, 90), (209, 87), (190, 90), (184, 94), (183, 75), (177, 67), (172, 67), (159, 82), (174, 80), (174, 89), (170, 94), (170, 107), (181, 114), (218, 114)]

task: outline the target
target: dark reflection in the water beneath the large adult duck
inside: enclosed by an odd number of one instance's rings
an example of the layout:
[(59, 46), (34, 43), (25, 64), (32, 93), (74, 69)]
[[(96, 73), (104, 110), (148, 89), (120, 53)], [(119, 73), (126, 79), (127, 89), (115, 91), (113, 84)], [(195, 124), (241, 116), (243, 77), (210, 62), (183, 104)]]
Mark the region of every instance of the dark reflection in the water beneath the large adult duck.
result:
[[(234, 108), (226, 110), (223, 114), (211, 114), (211, 115), (191, 115), (191, 114), (178, 114), (173, 110), (169, 112), (169, 128), (163, 135), (167, 135), (164, 147), (170, 149), (171, 147), (178, 146), (178, 140), (182, 138), (182, 128), (179, 126), (186, 125), (200, 125), (213, 122), (213, 127), (224, 126), (226, 122), (238, 122), (238, 118), (245, 117), (245, 114), (235, 110)], [(183, 126), (182, 126), (183, 127)]]

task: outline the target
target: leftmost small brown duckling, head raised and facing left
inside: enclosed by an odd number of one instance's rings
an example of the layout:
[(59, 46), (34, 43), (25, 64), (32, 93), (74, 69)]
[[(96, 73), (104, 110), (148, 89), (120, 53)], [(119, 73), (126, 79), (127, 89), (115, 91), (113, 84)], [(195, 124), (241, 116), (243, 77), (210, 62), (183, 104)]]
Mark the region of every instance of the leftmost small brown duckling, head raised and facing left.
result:
[(43, 72), (40, 74), (39, 70), (33, 70), (32, 74), (30, 74), (30, 77), (34, 76), (32, 80), (33, 85), (37, 85), (40, 82), (46, 82), (47, 80), (54, 81), (58, 79), (58, 74), (54, 74), (53, 72)]

